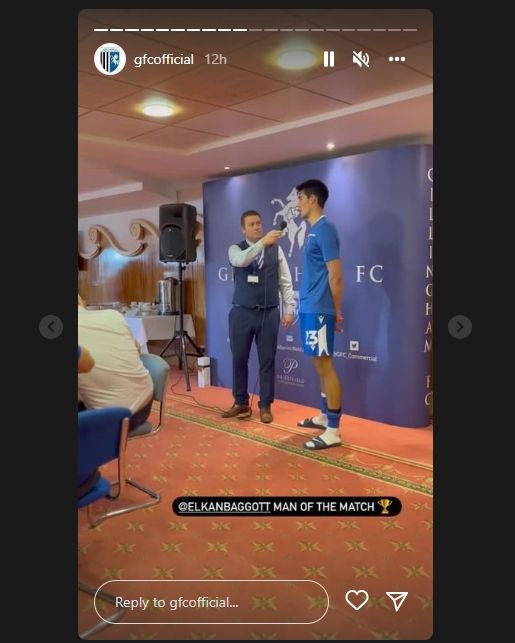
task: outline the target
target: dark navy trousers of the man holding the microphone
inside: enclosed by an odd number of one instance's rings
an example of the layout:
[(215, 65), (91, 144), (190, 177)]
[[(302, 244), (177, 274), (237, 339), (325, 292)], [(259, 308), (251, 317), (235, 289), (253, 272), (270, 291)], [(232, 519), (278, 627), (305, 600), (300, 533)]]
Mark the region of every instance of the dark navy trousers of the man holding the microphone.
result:
[(265, 310), (233, 306), (229, 313), (232, 351), (232, 394), (236, 404), (248, 404), (249, 355), (255, 341), (259, 360), (259, 407), (274, 401), (275, 353), (279, 307)]

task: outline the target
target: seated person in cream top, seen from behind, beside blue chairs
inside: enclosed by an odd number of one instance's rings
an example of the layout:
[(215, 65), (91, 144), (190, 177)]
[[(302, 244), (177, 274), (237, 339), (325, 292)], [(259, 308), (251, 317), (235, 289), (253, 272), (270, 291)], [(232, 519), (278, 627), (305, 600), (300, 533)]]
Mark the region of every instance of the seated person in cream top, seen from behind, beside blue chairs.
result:
[(78, 339), (95, 360), (91, 371), (78, 376), (84, 407), (125, 406), (132, 413), (129, 430), (143, 424), (152, 409), (154, 384), (123, 315), (116, 310), (86, 310), (79, 297)]

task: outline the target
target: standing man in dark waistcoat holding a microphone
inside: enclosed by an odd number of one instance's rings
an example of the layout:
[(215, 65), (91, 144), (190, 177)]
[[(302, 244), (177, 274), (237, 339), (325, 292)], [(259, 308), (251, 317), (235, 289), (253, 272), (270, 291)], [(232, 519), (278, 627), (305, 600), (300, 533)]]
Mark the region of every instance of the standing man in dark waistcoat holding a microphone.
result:
[(268, 424), (274, 419), (270, 407), (274, 401), (279, 292), (285, 328), (293, 323), (295, 300), (290, 269), (277, 243), (282, 231), (271, 230), (263, 236), (261, 216), (255, 210), (241, 215), (241, 231), (245, 239), (229, 248), (229, 262), (234, 270), (233, 307), (229, 313), (234, 404), (222, 417), (250, 414), (248, 361), (255, 341), (259, 360), (259, 415), (261, 422)]

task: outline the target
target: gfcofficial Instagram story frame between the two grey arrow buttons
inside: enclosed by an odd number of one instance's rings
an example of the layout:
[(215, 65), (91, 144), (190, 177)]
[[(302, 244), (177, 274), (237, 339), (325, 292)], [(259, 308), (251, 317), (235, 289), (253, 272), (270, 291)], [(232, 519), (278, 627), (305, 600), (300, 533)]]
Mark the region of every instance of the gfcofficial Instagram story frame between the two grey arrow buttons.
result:
[(83, 10), (77, 73), (78, 635), (431, 638), (432, 13)]

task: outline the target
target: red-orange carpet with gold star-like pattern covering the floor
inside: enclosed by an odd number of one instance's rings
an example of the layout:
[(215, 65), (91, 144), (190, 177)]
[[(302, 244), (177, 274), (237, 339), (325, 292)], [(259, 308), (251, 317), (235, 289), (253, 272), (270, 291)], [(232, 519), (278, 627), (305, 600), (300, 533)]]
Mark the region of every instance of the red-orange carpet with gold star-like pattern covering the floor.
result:
[[(174, 379), (177, 372), (170, 381)], [(295, 426), (298, 419), (313, 415), (313, 409), (276, 402), (271, 425), (261, 424), (257, 413), (250, 420), (222, 420), (212, 407), (230, 406), (230, 392), (197, 389), (194, 380), (187, 395), (183, 379), (173, 390), (168, 388), (163, 430), (128, 446), (129, 475), (160, 491), (161, 503), (111, 518), (95, 529), (88, 528), (85, 512), (79, 512), (79, 578), (95, 586), (117, 579), (315, 583), (111, 583), (106, 591), (166, 599), (166, 607), (129, 611), (120, 624), (94, 638), (429, 638), (431, 429), (390, 427), (344, 416), (344, 444), (313, 453), (302, 444), (317, 431)], [(379, 495), (399, 498), (401, 513), (392, 517), (182, 517), (171, 506), (178, 496), (334, 499)], [(188, 587), (194, 596), (202, 595), (202, 587), (216, 587), (220, 597), (227, 590), (233, 602), (239, 600), (248, 607), (238, 617), (219, 607), (211, 610), (213, 620), (240, 618), (254, 624), (178, 624), (208, 620), (198, 607), (170, 610), (170, 599), (186, 595)], [(359, 611), (345, 600), (349, 590), (368, 593), (368, 602)], [(399, 591), (408, 596), (397, 612), (386, 592)], [(363, 596), (354, 594), (354, 602)], [(108, 607), (102, 613), (110, 612)], [(79, 593), (79, 630), (96, 620), (92, 599)]]

